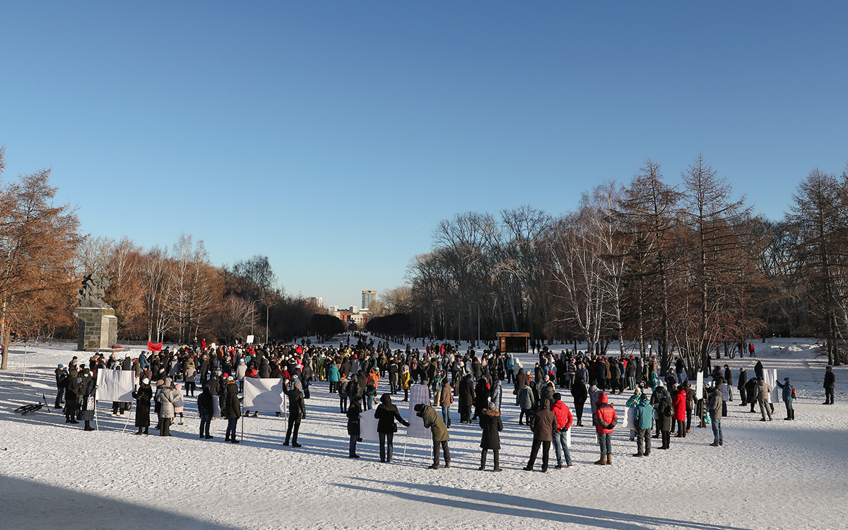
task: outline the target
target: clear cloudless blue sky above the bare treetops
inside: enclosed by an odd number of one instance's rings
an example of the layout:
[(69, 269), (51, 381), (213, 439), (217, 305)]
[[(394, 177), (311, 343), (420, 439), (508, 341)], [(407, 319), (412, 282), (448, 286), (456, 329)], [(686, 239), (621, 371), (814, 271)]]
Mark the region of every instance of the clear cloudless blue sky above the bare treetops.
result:
[(698, 153), (777, 219), (848, 162), (848, 3), (10, 2), (6, 179), (82, 228), (360, 305), (438, 220), (573, 209)]

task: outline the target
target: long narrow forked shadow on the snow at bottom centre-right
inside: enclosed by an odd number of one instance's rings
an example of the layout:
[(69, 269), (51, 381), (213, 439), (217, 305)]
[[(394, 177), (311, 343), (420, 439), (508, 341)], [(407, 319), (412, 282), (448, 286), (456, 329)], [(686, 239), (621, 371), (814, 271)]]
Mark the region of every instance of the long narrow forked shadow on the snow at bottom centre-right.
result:
[[(349, 477), (366, 483), (382, 484), (382, 488), (368, 488), (352, 484), (334, 484), (340, 488), (369, 491), (372, 493), (388, 494), (399, 499), (426, 502), (460, 510), (477, 510), (487, 514), (500, 514), (545, 521), (579, 524), (588, 527), (612, 528), (614, 530), (643, 530), (646, 527), (667, 526), (673, 528), (693, 528), (695, 530), (745, 530), (740, 527), (727, 525), (712, 525), (700, 522), (667, 519), (665, 517), (639, 516), (610, 510), (596, 510), (582, 506), (561, 505), (546, 500), (527, 499), (517, 495), (499, 494), (487, 491), (451, 488), (435, 484), (393, 483)], [(421, 494), (399, 491), (399, 488), (419, 489)], [(444, 495), (433, 497), (432, 495)]]

